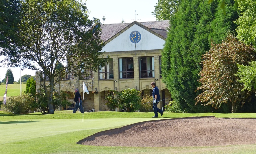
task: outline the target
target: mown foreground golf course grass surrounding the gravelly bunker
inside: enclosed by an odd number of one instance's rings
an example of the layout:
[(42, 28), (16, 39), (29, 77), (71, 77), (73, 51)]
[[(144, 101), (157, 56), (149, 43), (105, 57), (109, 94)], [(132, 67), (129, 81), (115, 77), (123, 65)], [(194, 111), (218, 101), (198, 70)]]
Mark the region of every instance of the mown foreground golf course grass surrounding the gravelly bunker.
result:
[[(153, 113), (93, 112), (72, 114), (72, 111), (55, 111), (55, 114), (30, 113), (13, 115), (0, 111), (1, 153), (255, 153), (253, 145), (226, 145), (208, 147), (105, 147), (78, 145), (79, 140), (99, 131), (122, 127), (141, 121), (155, 120)], [(215, 116), (217, 118), (256, 118), (256, 113), (164, 113), (164, 118)]]

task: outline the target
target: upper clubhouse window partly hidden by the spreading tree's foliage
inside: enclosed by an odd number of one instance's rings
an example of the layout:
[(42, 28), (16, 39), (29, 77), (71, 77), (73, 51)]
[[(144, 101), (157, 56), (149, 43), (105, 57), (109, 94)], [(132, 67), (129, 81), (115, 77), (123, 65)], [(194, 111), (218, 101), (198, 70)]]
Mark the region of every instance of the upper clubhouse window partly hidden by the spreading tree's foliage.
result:
[(100, 66), (99, 79), (113, 79), (113, 78), (114, 78), (113, 58), (110, 58), (110, 60), (104, 66)]

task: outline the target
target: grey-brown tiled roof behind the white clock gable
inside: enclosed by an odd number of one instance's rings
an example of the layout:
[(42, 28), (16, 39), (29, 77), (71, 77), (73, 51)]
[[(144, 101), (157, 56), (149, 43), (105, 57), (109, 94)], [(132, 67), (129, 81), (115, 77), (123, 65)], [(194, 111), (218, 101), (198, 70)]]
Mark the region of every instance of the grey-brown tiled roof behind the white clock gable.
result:
[(128, 29), (130, 26), (137, 24), (141, 25), (154, 33), (167, 38), (167, 28), (169, 28), (169, 20), (164, 21), (148, 21), (148, 22), (137, 22), (132, 23), (120, 23), (120, 24), (104, 24), (101, 25), (102, 34), (101, 39), (106, 42), (116, 34), (121, 34), (121, 31)]

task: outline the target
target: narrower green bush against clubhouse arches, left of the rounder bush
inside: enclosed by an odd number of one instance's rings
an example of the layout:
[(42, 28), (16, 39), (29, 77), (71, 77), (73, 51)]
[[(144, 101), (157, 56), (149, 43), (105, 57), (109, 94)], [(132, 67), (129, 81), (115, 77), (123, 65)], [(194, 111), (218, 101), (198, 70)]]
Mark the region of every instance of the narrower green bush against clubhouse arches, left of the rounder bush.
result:
[(109, 90), (107, 94), (106, 105), (109, 108), (109, 111), (115, 111), (113, 109), (118, 107), (119, 99), (121, 98), (121, 93), (116, 90)]

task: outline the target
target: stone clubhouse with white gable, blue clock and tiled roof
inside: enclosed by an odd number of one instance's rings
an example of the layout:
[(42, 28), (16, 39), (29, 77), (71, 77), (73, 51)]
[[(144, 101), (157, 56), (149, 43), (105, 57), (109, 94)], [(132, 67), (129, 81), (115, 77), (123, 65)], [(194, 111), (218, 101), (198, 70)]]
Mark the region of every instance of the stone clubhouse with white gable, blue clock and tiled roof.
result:
[[(101, 26), (101, 38), (105, 42), (103, 57), (111, 59), (97, 72), (89, 71), (89, 76), (76, 77), (67, 75), (55, 89), (66, 91), (70, 101), (74, 101), (74, 89), (79, 88), (84, 111), (109, 111), (105, 105), (105, 97), (109, 90), (123, 91), (135, 88), (142, 91), (142, 96), (152, 95), (150, 83), (156, 82), (161, 101), (158, 107), (164, 107), (171, 101), (171, 94), (161, 78), (161, 50), (167, 38), (169, 21), (150, 21), (104, 24)], [(36, 90), (42, 82), (40, 72), (36, 72)], [(89, 94), (83, 93), (83, 83)], [(167, 98), (167, 99), (166, 99)], [(61, 108), (66, 110), (69, 107)]]

